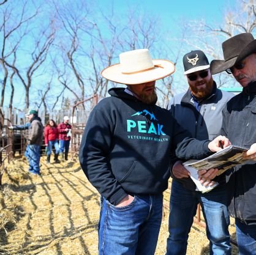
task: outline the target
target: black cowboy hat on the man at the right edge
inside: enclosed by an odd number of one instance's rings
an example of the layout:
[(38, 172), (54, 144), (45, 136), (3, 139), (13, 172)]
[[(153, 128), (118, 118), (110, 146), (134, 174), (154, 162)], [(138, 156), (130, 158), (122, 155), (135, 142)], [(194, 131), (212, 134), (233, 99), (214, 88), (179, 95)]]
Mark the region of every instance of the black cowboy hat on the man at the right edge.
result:
[(210, 70), (213, 75), (233, 67), (250, 54), (256, 53), (256, 40), (250, 33), (238, 34), (222, 43), (222, 51), (224, 60), (211, 61)]

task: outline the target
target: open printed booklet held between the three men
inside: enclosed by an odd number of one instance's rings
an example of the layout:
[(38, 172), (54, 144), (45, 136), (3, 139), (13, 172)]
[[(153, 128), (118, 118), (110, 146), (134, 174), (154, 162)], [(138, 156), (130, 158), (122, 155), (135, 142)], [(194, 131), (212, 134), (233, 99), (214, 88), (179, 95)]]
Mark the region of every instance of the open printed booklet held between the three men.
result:
[(217, 176), (225, 172), (227, 169), (232, 168), (236, 164), (241, 164), (243, 160), (243, 152), (246, 152), (249, 148), (231, 145), (225, 147), (219, 152), (204, 158), (203, 160), (189, 160), (183, 163), (187, 171), (190, 172), (190, 177), (197, 186), (197, 190), (202, 193), (213, 190), (219, 183), (215, 183), (213, 186), (204, 186), (198, 180), (198, 170), (209, 170), (211, 168), (219, 169)]

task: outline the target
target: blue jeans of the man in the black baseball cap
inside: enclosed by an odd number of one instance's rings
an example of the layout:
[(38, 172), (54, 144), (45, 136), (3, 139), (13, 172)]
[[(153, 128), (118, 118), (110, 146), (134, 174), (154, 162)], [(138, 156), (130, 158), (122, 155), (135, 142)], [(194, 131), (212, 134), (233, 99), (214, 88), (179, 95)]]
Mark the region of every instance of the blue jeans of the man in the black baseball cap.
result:
[(197, 205), (200, 203), (206, 221), (206, 235), (210, 245), (210, 254), (231, 254), (230, 223), (226, 192), (216, 188), (209, 193), (190, 191), (176, 180), (171, 183), (169, 237), (167, 238), (168, 255), (186, 255), (187, 239)]

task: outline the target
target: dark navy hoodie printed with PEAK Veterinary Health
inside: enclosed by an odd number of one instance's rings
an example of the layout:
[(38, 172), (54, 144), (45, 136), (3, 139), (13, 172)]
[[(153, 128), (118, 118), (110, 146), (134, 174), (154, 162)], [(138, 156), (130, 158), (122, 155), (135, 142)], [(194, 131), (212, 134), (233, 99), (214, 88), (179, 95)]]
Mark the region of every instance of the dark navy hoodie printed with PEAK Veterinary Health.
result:
[[(168, 187), (170, 154), (208, 157), (207, 141), (189, 138), (167, 109), (147, 105), (123, 88), (108, 91), (92, 110), (79, 160), (89, 182), (111, 204), (127, 194), (160, 194)], [(176, 151), (175, 151), (176, 149)]]

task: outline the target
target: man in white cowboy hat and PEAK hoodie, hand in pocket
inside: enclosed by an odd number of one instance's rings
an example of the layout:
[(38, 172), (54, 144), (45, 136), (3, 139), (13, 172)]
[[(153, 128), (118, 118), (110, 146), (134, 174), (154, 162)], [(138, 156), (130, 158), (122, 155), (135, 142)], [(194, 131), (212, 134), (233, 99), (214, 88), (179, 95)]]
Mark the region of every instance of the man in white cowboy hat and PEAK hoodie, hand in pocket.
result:
[(119, 59), (102, 76), (127, 88), (110, 89), (111, 97), (92, 109), (79, 160), (101, 195), (99, 254), (153, 255), (171, 150), (201, 158), (220, 148), (217, 140), (188, 138), (171, 113), (156, 105), (156, 80), (175, 72), (173, 63), (152, 60), (147, 49), (121, 53)]

